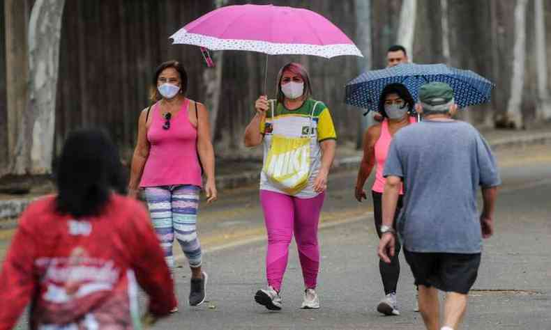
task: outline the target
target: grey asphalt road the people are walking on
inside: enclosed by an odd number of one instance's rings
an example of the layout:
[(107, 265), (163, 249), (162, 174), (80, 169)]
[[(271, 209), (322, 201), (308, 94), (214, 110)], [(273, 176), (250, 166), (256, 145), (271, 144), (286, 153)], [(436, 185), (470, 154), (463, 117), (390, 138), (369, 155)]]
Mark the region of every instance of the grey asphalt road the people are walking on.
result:
[[(503, 150), (497, 159), (504, 184), (495, 214), (496, 233), (485, 242), (462, 329), (549, 330), (551, 146)], [(370, 198), (361, 204), (353, 198), (355, 176), (352, 171), (334, 173), (329, 182), (319, 233), (319, 310), (299, 309), (303, 284), (294, 245), (282, 288), (282, 311), (269, 312), (255, 304), (256, 290), (266, 285), (265, 234), (257, 187), (246, 187), (222, 191), (220, 201), (201, 207), (199, 237), (206, 252), (209, 300), (193, 308), (186, 304), (190, 272), (175, 249), (180, 311), (155, 329), (424, 329), (421, 315), (412, 311), (413, 278), (402, 257), (402, 315), (384, 317), (375, 311), (383, 294), (378, 240)], [(7, 242), (3, 239), (0, 246)], [(22, 320), (21, 329), (24, 324)]]

